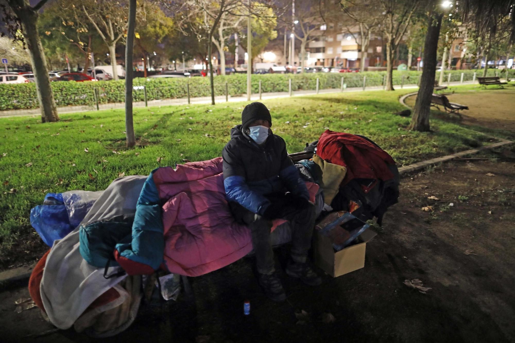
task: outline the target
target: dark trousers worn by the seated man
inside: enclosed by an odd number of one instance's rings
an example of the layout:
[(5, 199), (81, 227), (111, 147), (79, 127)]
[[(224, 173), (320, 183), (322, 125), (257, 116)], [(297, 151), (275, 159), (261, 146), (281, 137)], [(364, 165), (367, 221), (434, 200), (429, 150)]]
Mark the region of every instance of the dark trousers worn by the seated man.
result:
[[(270, 240), (272, 221), (259, 214), (246, 209), (241, 217), (250, 228), (252, 235), (252, 247), (256, 256), (258, 272), (269, 274), (275, 271), (273, 262), (273, 250)], [(286, 207), (281, 218), (286, 219), (291, 225), (291, 259), (294, 262), (305, 263), (307, 251), (311, 248), (311, 237), (315, 226), (315, 205), (311, 204), (305, 209)]]

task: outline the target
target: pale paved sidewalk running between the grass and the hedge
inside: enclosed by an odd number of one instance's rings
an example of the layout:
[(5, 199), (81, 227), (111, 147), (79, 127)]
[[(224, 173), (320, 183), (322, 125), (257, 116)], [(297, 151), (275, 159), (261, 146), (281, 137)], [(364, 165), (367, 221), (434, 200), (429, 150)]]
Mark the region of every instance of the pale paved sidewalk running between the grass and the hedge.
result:
[[(464, 81), (462, 84), (473, 84), (477, 82), (472, 81)], [(447, 83), (445, 83), (447, 84)], [(449, 85), (460, 85), (459, 81), (450, 82)], [(396, 89), (401, 89), (401, 86), (394, 85)], [(418, 86), (416, 84), (405, 84), (403, 89), (416, 89)], [(366, 91), (382, 91), (383, 86), (370, 86), (365, 89)], [(321, 89), (318, 94), (329, 94), (329, 93), (340, 93), (340, 89)], [(347, 88), (346, 92), (363, 92), (362, 87), (353, 87)], [(292, 92), (292, 96), (299, 95), (315, 95), (317, 94), (314, 90), (302, 90), (302, 91), (294, 91)], [(273, 99), (273, 98), (286, 98), (289, 97), (288, 92), (270, 92), (270, 93), (262, 93), (262, 99)], [(228, 99), (230, 102), (235, 101), (247, 101), (247, 96), (229, 96)], [(259, 94), (252, 94), (251, 100), (259, 100)], [(163, 100), (148, 100), (148, 106), (170, 106), (170, 105), (187, 105), (187, 98), (180, 99), (163, 99)], [(215, 104), (219, 104), (220, 102), (226, 102), (225, 95), (215, 96)], [(190, 99), (191, 104), (211, 104), (210, 96), (196, 97)], [(132, 104), (133, 107), (145, 107), (145, 101), (136, 101)], [(112, 104), (100, 104), (98, 105), (100, 110), (111, 110), (117, 108), (125, 108), (125, 102), (114, 102)], [(66, 106), (66, 107), (58, 107), (57, 113), (73, 113), (73, 112), (85, 112), (85, 111), (94, 111), (95, 106)], [(12, 117), (12, 116), (28, 116), (28, 115), (40, 115), (41, 112), (38, 109), (30, 109), (30, 110), (11, 110), (11, 111), (0, 111), (0, 117)]]

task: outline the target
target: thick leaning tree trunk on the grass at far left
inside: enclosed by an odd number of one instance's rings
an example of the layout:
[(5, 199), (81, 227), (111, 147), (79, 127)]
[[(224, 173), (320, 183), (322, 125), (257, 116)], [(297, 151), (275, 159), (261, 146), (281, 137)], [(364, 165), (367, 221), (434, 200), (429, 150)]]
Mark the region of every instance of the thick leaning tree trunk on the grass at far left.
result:
[(36, 23), (38, 13), (32, 11), (28, 2), (20, 8), (12, 8), (22, 23), (23, 37), (29, 48), (30, 62), (36, 78), (36, 91), (38, 93), (39, 107), (41, 109), (41, 122), (57, 122), (56, 102), (46, 66), (45, 53), (39, 37)]

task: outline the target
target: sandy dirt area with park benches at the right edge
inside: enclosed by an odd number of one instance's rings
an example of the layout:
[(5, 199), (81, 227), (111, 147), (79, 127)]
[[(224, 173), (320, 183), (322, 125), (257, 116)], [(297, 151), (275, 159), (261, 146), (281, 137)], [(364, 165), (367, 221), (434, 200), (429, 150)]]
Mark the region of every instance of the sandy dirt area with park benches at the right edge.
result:
[[(479, 88), (478, 88), (479, 89)], [(491, 95), (495, 95), (492, 101)], [(464, 93), (446, 94), (449, 101), (468, 106), (468, 110), (460, 111), (460, 123), (466, 125), (486, 126), (492, 129), (515, 132), (515, 92), (512, 86), (505, 89), (490, 89), (484, 92), (471, 90)], [(415, 106), (416, 96), (406, 99), (406, 105)], [(443, 111), (443, 108), (440, 106)]]

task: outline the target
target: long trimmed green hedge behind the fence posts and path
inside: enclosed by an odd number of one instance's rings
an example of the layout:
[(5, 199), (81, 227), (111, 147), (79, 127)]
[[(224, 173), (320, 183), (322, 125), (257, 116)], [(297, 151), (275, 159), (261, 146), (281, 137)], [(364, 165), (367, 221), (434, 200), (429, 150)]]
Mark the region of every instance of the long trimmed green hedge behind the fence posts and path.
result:
[[(476, 71), (477, 72), (477, 71)], [(504, 71), (489, 69), (488, 76)], [(444, 82), (447, 82), (448, 74), (451, 74), (451, 81), (459, 81), (461, 73), (464, 73), (464, 81), (472, 80), (473, 70), (457, 70), (445, 72)], [(481, 74), (480, 71), (478, 74)], [(394, 71), (393, 84), (417, 84), (422, 72), (417, 71)], [(252, 93), (259, 92), (259, 81), (261, 90), (267, 92), (287, 92), (288, 79), (291, 78), (291, 89), (314, 90), (316, 79), (319, 78), (319, 89), (340, 88), (341, 77), (347, 87), (363, 87), (363, 77), (366, 76), (367, 86), (380, 86), (386, 72), (362, 72), (362, 73), (305, 73), (305, 74), (264, 74), (252, 75)], [(515, 77), (515, 70), (510, 70), (510, 77)], [(436, 75), (439, 77), (439, 72)], [(247, 75), (234, 74), (216, 76), (214, 78), (215, 95), (225, 95), (226, 82), (228, 91), (232, 96), (247, 93)], [(135, 78), (134, 86), (145, 85), (147, 88), (147, 99), (174, 99), (187, 97), (187, 83), (190, 83), (190, 96), (210, 96), (209, 78)], [(123, 102), (125, 98), (125, 81), (97, 81), (97, 82), (52, 82), (50, 83), (56, 104), (58, 107), (95, 104), (94, 88), (98, 89), (99, 103), (108, 104), (112, 102)], [(134, 90), (134, 101), (143, 101), (144, 92), (141, 89)], [(38, 97), (35, 83), (3, 83), (0, 84), (0, 111), (20, 110), (38, 108)]]

